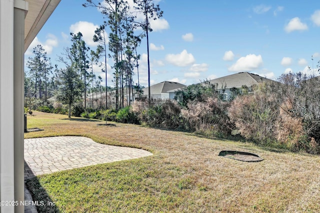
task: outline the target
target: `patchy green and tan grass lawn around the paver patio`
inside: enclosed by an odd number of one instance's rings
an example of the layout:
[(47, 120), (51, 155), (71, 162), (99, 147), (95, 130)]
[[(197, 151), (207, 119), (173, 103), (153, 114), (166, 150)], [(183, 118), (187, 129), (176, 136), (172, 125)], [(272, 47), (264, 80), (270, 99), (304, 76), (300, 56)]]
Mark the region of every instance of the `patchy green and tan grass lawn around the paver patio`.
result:
[[(153, 156), (42, 175), (27, 181), (39, 212), (320, 212), (320, 158), (129, 124), (35, 112), (25, 138), (78, 135)], [(221, 150), (258, 154), (247, 163)], [(46, 201), (45, 201), (46, 203)]]

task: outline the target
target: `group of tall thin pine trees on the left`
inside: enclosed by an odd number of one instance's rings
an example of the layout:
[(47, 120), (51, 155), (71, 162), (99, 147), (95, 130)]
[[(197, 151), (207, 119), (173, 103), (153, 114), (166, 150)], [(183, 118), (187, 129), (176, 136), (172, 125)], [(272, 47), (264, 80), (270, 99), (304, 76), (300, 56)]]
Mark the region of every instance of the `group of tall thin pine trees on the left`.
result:
[[(82, 4), (84, 7), (97, 7), (107, 21), (103, 21), (94, 31), (92, 39), (98, 44), (95, 50), (91, 50), (86, 45), (81, 32), (70, 33), (71, 46), (64, 47), (57, 59), (65, 64), (64, 68), (58, 69), (57, 65), (52, 67), (43, 47), (41, 45), (34, 47), (34, 56), (29, 57), (27, 61), (29, 70), (25, 76), (25, 105), (30, 109), (33, 105), (48, 106), (48, 99), (54, 97), (57, 101), (68, 105), (70, 116), (71, 106), (78, 101), (83, 101), (84, 111), (92, 107), (118, 110), (131, 105), (130, 100), (133, 101), (134, 97), (140, 97), (142, 87), (139, 84), (140, 55), (137, 53), (137, 47), (146, 37), (148, 85), (150, 86), (148, 32), (152, 29), (149, 19), (159, 18), (163, 12), (152, 0), (133, 0), (133, 2), (133, 8), (130, 8), (124, 0), (104, 0), (103, 2), (87, 0)], [(143, 15), (142, 21), (136, 19), (138, 14)], [(138, 28), (142, 29), (142, 32), (136, 30)], [(112, 86), (107, 85), (108, 57), (114, 61), (111, 66), (114, 70)], [(94, 73), (93, 65), (95, 64), (98, 64), (101, 71), (105, 73), (104, 86), (101, 86), (102, 78)], [(134, 85), (133, 69), (135, 67), (138, 80)], [(110, 100), (108, 93), (110, 91), (115, 94), (114, 101)], [(99, 100), (97, 100), (98, 93)], [(87, 94), (90, 94), (89, 100), (86, 98)], [(150, 103), (150, 92), (148, 101)]]

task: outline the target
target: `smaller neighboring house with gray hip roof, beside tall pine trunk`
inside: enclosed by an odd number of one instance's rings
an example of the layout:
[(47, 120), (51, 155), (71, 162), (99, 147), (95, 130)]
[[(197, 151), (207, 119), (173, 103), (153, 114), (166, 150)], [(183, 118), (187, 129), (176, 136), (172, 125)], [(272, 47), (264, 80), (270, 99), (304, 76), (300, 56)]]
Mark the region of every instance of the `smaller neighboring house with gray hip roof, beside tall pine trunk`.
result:
[[(185, 85), (171, 82), (171, 81), (162, 81), (160, 83), (154, 84), (150, 86), (150, 96), (153, 99), (173, 99), (174, 98), (174, 90), (185, 87)], [(148, 87), (142, 89), (142, 96), (148, 97), (149, 91)]]

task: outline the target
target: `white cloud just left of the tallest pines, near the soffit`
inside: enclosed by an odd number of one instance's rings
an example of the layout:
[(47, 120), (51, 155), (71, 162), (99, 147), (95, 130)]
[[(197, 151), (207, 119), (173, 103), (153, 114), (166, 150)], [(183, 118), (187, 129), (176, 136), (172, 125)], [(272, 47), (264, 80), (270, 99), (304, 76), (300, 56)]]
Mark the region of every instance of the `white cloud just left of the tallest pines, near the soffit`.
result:
[[(94, 30), (98, 28), (98, 25), (94, 25), (87, 21), (78, 21), (70, 26), (70, 32), (76, 34), (78, 32), (82, 33), (82, 39), (88, 46), (96, 46), (98, 43), (93, 41)], [(107, 34), (105, 33), (107, 38)]]

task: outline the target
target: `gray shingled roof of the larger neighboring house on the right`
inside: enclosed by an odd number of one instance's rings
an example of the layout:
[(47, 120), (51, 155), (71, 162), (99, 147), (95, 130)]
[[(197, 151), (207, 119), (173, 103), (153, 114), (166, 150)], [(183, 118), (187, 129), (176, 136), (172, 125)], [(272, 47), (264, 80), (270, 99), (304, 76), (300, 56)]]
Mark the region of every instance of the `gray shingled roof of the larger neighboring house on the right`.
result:
[(247, 87), (250, 87), (257, 83), (262, 83), (266, 81), (271, 81), (268, 78), (261, 77), (256, 74), (248, 73), (248, 72), (239, 72), (232, 75), (227, 75), (224, 77), (216, 78), (213, 80), (210, 80), (209, 82), (212, 84), (218, 84), (217, 89), (221, 89), (226, 86), (226, 88), (240, 88), (242, 85), (246, 85)]

